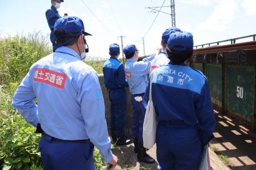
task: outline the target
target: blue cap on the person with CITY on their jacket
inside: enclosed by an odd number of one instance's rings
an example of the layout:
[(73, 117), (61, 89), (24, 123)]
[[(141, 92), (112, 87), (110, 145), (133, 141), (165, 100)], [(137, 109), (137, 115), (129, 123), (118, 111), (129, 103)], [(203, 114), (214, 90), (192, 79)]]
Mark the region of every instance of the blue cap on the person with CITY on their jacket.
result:
[(193, 49), (193, 35), (190, 32), (174, 32), (170, 34), (167, 47), (170, 50), (184, 51)]

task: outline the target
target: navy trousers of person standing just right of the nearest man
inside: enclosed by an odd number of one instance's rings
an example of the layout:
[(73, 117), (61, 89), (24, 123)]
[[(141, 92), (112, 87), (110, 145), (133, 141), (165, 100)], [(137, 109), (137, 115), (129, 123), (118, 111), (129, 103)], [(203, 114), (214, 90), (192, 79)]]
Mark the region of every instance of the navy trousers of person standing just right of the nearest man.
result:
[(124, 124), (126, 123), (126, 90), (124, 88), (109, 89), (111, 101), (111, 131), (117, 137), (123, 138)]

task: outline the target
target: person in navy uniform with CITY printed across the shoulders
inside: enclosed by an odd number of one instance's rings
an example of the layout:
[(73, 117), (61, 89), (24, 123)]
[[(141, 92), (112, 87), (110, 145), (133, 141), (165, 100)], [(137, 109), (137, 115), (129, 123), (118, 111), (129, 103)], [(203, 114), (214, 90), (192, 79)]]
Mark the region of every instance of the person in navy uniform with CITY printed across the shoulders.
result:
[[(167, 43), (169, 64), (150, 74), (158, 120), (156, 144), (160, 170), (198, 170), (201, 147), (212, 139), (215, 118), (207, 78), (184, 64), (192, 54), (192, 34), (174, 32)], [(149, 87), (150, 82), (144, 105), (149, 100)]]

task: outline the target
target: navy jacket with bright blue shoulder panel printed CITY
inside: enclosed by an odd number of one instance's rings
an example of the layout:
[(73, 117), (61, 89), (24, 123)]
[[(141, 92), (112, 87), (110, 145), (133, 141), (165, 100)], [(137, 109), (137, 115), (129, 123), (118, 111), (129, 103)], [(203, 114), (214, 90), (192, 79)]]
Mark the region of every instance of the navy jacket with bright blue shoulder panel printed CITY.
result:
[[(156, 68), (152, 73), (152, 101), (157, 120), (183, 121), (196, 126), (202, 144), (209, 142), (215, 128), (215, 118), (207, 78), (203, 73), (185, 64), (173, 65), (172, 62)], [(149, 101), (149, 86), (150, 81), (144, 96), (144, 106)]]

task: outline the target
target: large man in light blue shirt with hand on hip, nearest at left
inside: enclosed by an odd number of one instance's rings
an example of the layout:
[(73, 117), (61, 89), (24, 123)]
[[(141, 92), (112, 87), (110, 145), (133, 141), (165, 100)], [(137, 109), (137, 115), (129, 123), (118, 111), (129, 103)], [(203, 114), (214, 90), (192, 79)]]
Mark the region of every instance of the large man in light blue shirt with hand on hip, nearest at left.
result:
[(82, 62), (88, 51), (85, 35), (91, 34), (78, 17), (58, 19), (54, 34), (56, 52), (31, 66), (12, 106), (37, 130), (41, 125), (44, 169), (95, 170), (94, 145), (114, 169), (117, 157), (111, 152), (101, 85), (96, 71)]

